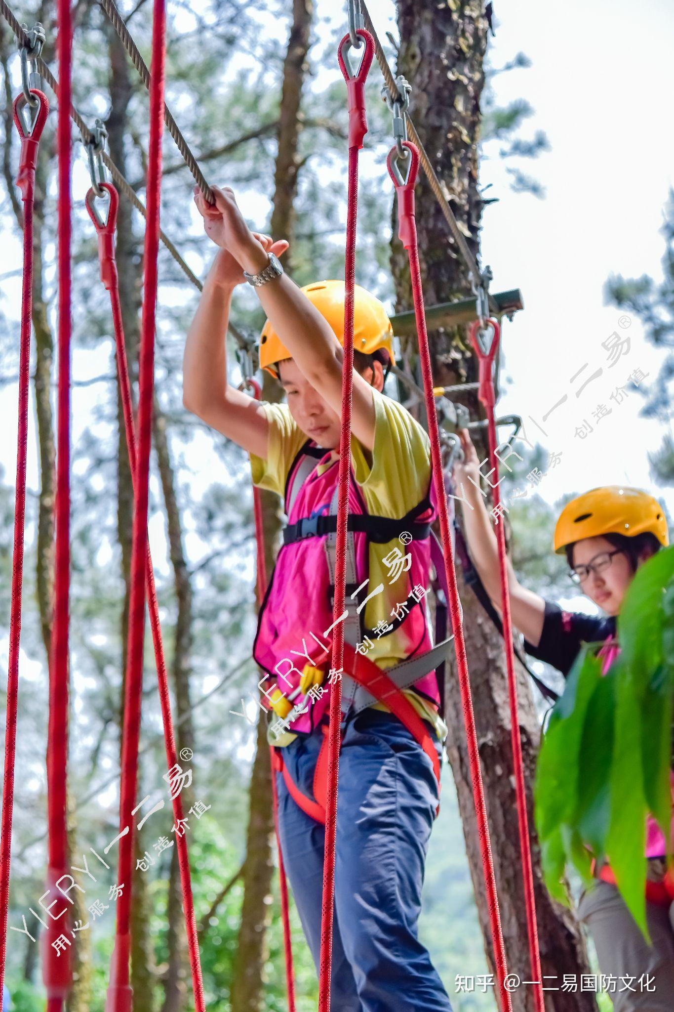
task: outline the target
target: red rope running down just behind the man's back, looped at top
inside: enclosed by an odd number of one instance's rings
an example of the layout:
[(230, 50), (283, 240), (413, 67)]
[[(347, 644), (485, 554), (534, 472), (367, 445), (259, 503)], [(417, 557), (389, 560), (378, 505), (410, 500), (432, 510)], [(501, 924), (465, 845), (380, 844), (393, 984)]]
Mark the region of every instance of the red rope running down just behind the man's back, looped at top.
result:
[(449, 604), (450, 613), (452, 615), (452, 631), (454, 632), (454, 646), (457, 655), (457, 670), (459, 673), (459, 687), (464, 711), (464, 723), (466, 725), (468, 759), (470, 762), (473, 800), (475, 803), (480, 853), (482, 856), (482, 868), (484, 872), (487, 904), (489, 907), (489, 923), (491, 926), (492, 944), (494, 946), (494, 961), (496, 965), (501, 1009), (510, 1012), (510, 994), (505, 989), (505, 978), (507, 976), (505, 948), (501, 932), (501, 919), (498, 909), (498, 896), (496, 894), (496, 880), (494, 877), (494, 865), (491, 856), (491, 844), (489, 842), (489, 825), (487, 821), (484, 788), (482, 785), (482, 772), (480, 770), (480, 753), (478, 750), (477, 734), (475, 730), (475, 715), (473, 713), (473, 700), (471, 698), (470, 675), (468, 673), (468, 661), (466, 659), (466, 645), (461, 624), (461, 603), (459, 601), (457, 577), (454, 570), (454, 556), (452, 552), (452, 537), (450, 533), (450, 514), (443, 476), (443, 459), (440, 448), (438, 415), (436, 412), (436, 402), (432, 393), (434, 384), (432, 371), (430, 367), (430, 352), (428, 350), (428, 334), (426, 332), (425, 325), (419, 255), (416, 244), (414, 183), (416, 182), (416, 175), (418, 172), (419, 155), (414, 145), (409, 141), (403, 141), (402, 145), (407, 149), (407, 151), (409, 151), (410, 155), (409, 159), (405, 159), (405, 164), (409, 162), (409, 169), (407, 171), (406, 178), (402, 178), (397, 162), (395, 161), (397, 158), (396, 148), (392, 148), (389, 152), (386, 164), (398, 196), (398, 236), (409, 256), (409, 270), (411, 274), (412, 297), (414, 301), (414, 316), (416, 319), (416, 330), (419, 337), (419, 354), (421, 359), (421, 371), (423, 373), (423, 394), (428, 419), (428, 435), (430, 437), (432, 478), (436, 484), (436, 495), (438, 497), (438, 511), (440, 514), (440, 527), (443, 540), (443, 555), (445, 557), (445, 572), (450, 591)]

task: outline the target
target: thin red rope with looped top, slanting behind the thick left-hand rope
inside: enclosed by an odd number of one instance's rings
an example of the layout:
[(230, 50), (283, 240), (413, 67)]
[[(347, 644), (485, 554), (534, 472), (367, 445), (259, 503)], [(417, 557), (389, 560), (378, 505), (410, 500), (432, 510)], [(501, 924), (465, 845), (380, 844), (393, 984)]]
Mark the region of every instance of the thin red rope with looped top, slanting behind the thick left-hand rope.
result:
[[(114, 235), (117, 224), (117, 207), (119, 195), (114, 186), (110, 183), (101, 182), (99, 188), (104, 190), (109, 196), (108, 213), (105, 221), (98, 214), (96, 206), (96, 192), (92, 187), (86, 196), (87, 210), (93, 222), (98, 236), (98, 258), (101, 268), (101, 280), (110, 292), (110, 304), (112, 308), (112, 323), (115, 338), (115, 354), (117, 360), (117, 377), (119, 381), (119, 394), (124, 419), (124, 432), (126, 435), (126, 448), (128, 451), (128, 462), (131, 472), (131, 482), (135, 487), (136, 482), (136, 456), (137, 447), (135, 439), (135, 427), (133, 422), (133, 405), (131, 400), (131, 384), (128, 376), (128, 365), (126, 361), (126, 348), (124, 345), (124, 327), (121, 316), (121, 303), (119, 300), (119, 286), (117, 276), (117, 264), (115, 261)], [(101, 196), (104, 194), (101, 193)], [(150, 625), (153, 635), (153, 645), (155, 648), (155, 662), (157, 664), (157, 677), (159, 680), (159, 694), (162, 706), (162, 718), (164, 721), (164, 738), (166, 741), (166, 756), (168, 769), (173, 769), (178, 762), (176, 753), (176, 740), (174, 736), (173, 719), (171, 715), (171, 697), (169, 694), (169, 682), (167, 678), (166, 659), (164, 656), (164, 644), (162, 643), (162, 628), (159, 617), (159, 602), (157, 600), (157, 587), (155, 585), (155, 573), (153, 562), (148, 545), (148, 562), (146, 568), (146, 593), (150, 610)], [(173, 814), (176, 826), (181, 825), (183, 819), (183, 803), (180, 793), (173, 798)], [(120, 829), (123, 827), (120, 826)], [(187, 930), (187, 940), (190, 952), (190, 965), (192, 969), (192, 987), (194, 990), (195, 1012), (205, 1012), (203, 996), (203, 981), (201, 976), (201, 961), (199, 958), (199, 944), (197, 941), (197, 925), (194, 916), (194, 900), (192, 897), (192, 882), (190, 877), (190, 864), (187, 848), (187, 836), (176, 834), (176, 847), (178, 848), (178, 861), (180, 864), (180, 880), (183, 891), (183, 910), (185, 912), (185, 927)]]

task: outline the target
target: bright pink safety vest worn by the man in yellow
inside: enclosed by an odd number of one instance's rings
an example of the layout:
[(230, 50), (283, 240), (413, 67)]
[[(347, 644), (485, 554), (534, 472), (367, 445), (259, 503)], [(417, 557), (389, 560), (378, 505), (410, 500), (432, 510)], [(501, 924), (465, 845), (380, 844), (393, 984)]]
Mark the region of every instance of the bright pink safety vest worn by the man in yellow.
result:
[[(336, 503), (339, 458), (333, 459), (318, 475), (316, 465), (326, 462), (330, 450), (307, 440), (295, 457), (285, 488), (285, 512), (288, 525), (284, 530), (284, 543), (279, 552), (265, 600), (258, 616), (258, 631), (253, 646), (253, 656), (266, 672), (261, 688), (271, 697), (275, 687), (287, 697), (299, 686), (305, 664), (323, 668), (327, 673), (329, 648), (332, 640), (332, 601), (334, 590), (334, 543), (336, 538)], [(398, 609), (399, 616), (391, 617), (392, 627), (384, 636), (397, 631), (406, 641), (407, 657), (423, 654), (432, 647), (429, 623), (426, 617), (425, 598), (417, 601), (412, 588), (417, 584), (428, 586), (430, 569), (430, 524), (436, 517), (436, 499), (432, 481), (427, 495), (401, 519), (377, 517), (368, 513), (361, 490), (354, 480), (353, 469), (349, 489), (348, 566), (345, 608), (349, 616), (345, 621), (345, 642), (356, 647), (367, 635), (374, 642), (377, 632), (364, 625), (365, 608), (358, 607), (375, 588), (366, 584), (369, 576), (369, 547), (371, 541), (392, 541), (408, 531), (412, 540), (399, 542), (404, 556), (411, 555), (407, 576), (409, 595), (405, 608)], [(406, 540), (406, 538), (405, 538)], [(392, 544), (391, 547), (394, 545)], [(358, 588), (361, 590), (357, 596)], [(345, 671), (345, 675), (348, 671)], [(268, 676), (268, 677), (267, 677)], [(331, 686), (327, 674), (323, 678), (325, 691), (309, 703), (308, 709), (288, 724), (294, 734), (310, 734), (319, 724), (329, 706)], [(434, 703), (440, 704), (438, 679), (435, 670), (413, 683), (415, 691)], [(343, 686), (343, 698), (345, 689)], [(302, 705), (305, 699), (297, 694), (293, 705)], [(345, 707), (349, 699), (347, 698)], [(345, 718), (346, 719), (346, 718)]]

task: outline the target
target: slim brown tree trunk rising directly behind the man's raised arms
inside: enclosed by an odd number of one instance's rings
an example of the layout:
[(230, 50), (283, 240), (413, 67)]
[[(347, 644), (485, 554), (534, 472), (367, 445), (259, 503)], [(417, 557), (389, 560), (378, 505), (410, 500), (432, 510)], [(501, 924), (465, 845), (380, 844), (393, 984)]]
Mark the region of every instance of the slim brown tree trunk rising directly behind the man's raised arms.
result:
[[(299, 171), (298, 141), (300, 133), (299, 111), (302, 85), (307, 70), (307, 55), (312, 0), (293, 0), (293, 20), (288, 49), (283, 66), (283, 87), (279, 116), (279, 146), (274, 173), (275, 189), (271, 232), (275, 238), (290, 242), (294, 226), (293, 203), (297, 192)], [(292, 264), (286, 257), (286, 270)], [(278, 402), (279, 385), (264, 373), (263, 400)], [(275, 545), (281, 527), (278, 497), (263, 491), (261, 494), (265, 566), (271, 574)], [(258, 607), (260, 606), (258, 600)], [(272, 834), (274, 816), (271, 803), (271, 769), (267, 742), (267, 713), (258, 711), (257, 748), (249, 791), (249, 827), (244, 865), (244, 902), (238, 931), (236, 959), (230, 990), (231, 1012), (258, 1012), (261, 1005), (266, 957), (266, 932), (269, 925), (269, 897), (271, 893), (274, 859)]]

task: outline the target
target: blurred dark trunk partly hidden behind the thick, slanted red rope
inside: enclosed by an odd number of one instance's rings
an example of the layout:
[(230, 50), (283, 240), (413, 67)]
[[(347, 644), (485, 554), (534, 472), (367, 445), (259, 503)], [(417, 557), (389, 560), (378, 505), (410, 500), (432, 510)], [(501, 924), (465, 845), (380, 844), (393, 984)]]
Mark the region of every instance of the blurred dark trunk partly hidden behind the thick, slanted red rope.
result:
[[(110, 58), (110, 103), (107, 120), (110, 156), (123, 175), (126, 175), (124, 157), (124, 133), (126, 130), (127, 107), (132, 94), (126, 54), (116, 33), (108, 28), (108, 53)], [(139, 263), (140, 254), (133, 235), (131, 210), (127, 200), (119, 201), (117, 216), (116, 259), (119, 272), (119, 294), (126, 342), (129, 371), (134, 375), (138, 348), (138, 309), (140, 305)], [(116, 370), (115, 370), (116, 371)], [(122, 642), (122, 686), (124, 698), (124, 677), (126, 672), (126, 638), (128, 631), (129, 580), (131, 566), (131, 528), (133, 519), (133, 490), (128, 466), (126, 437), (121, 411), (121, 401), (117, 395), (117, 536), (121, 547), (121, 568), (124, 580), (124, 604), (121, 614)], [(120, 728), (123, 713), (120, 713)], [(138, 791), (140, 791), (138, 770)], [(142, 796), (138, 792), (138, 797)], [(133, 1012), (153, 1012), (155, 1009), (154, 986), (156, 981), (155, 952), (151, 935), (151, 904), (148, 895), (146, 873), (137, 868), (138, 857), (143, 854), (141, 834), (134, 834), (134, 864), (132, 877), (131, 905), (131, 973), (133, 989)]]

